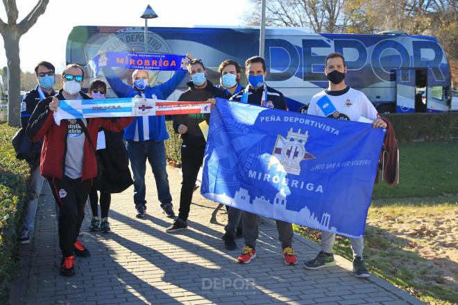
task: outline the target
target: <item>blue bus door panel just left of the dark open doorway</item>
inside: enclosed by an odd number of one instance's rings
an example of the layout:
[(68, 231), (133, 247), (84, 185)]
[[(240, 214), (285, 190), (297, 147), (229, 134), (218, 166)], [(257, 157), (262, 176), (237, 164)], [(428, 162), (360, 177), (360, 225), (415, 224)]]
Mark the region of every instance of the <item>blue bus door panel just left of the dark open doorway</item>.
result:
[(416, 111), (416, 75), (414, 69), (396, 70), (396, 113)]

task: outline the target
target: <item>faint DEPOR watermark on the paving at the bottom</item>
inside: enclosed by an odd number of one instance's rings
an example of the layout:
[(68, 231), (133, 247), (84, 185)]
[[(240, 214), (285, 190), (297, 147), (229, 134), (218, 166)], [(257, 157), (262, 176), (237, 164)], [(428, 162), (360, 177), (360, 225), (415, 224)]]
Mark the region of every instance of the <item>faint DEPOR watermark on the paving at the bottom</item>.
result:
[(256, 281), (250, 278), (204, 277), (201, 289), (205, 295), (255, 295)]

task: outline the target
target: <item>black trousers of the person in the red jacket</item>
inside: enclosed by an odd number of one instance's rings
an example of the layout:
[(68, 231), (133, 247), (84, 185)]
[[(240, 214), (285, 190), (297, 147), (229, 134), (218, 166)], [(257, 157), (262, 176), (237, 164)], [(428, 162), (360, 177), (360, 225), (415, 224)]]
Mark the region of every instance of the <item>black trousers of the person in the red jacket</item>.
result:
[(81, 181), (80, 178), (64, 176), (63, 179), (48, 179), (48, 182), (59, 206), (59, 245), (62, 256), (73, 256), (92, 179)]

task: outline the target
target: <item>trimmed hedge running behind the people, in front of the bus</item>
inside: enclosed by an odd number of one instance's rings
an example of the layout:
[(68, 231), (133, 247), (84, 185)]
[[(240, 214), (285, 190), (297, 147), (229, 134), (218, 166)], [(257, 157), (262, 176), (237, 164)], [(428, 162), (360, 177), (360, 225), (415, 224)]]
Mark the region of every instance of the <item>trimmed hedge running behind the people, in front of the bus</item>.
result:
[[(414, 141), (447, 141), (458, 138), (458, 112), (384, 114), (394, 126), (399, 143)], [(165, 142), (167, 158), (171, 165), (180, 166), (180, 135), (167, 122), (170, 139)]]

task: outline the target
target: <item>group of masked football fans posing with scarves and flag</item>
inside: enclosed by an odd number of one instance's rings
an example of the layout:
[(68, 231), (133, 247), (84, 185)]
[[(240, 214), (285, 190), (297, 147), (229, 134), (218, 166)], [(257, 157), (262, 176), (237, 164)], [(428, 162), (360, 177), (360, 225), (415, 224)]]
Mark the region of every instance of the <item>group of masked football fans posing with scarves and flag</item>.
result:
[[(248, 58), (245, 73), (248, 85), (241, 83), (241, 67), (234, 60), (224, 60), (219, 66), (221, 83), (214, 85), (207, 79), (202, 60), (189, 60), (187, 72), (176, 72), (168, 81), (151, 86), (149, 73), (135, 70), (132, 85), (119, 79), (111, 67), (102, 71), (110, 88), (118, 97), (143, 97), (147, 99), (167, 99), (189, 73), (189, 89), (180, 95), (178, 101), (209, 101), (216, 103), (217, 97), (266, 108), (288, 110), (287, 101), (282, 92), (266, 85), (266, 63), (260, 56)], [(330, 117), (356, 120), (364, 116), (373, 120), (373, 126), (386, 127), (378, 117), (374, 106), (367, 97), (345, 83), (347, 68), (340, 53), (331, 53), (325, 60), (325, 75), (328, 88), (316, 94), (310, 101), (308, 114), (325, 116), (316, 102), (327, 95), (339, 113)], [(149, 160), (155, 184), (158, 190), (160, 208), (173, 223), (167, 233), (187, 229), (187, 219), (192, 203), (199, 169), (203, 163), (205, 137), (199, 127), (203, 121), (211, 119), (210, 114), (189, 114), (173, 116), (173, 129), (179, 133), (183, 183), (180, 192), (178, 216), (173, 211), (172, 197), (169, 190), (167, 163), (164, 141), (169, 138), (164, 116), (64, 119), (60, 125), (53, 120), (53, 113), (58, 110), (60, 100), (102, 99), (106, 97), (107, 85), (101, 80), (90, 84), (87, 94), (82, 91), (85, 71), (79, 65), (67, 65), (62, 72), (62, 89), (56, 92), (56, 69), (51, 63), (40, 62), (35, 67), (37, 87), (24, 97), (21, 105), (22, 127), (34, 145), (41, 148), (31, 163), (32, 199), (28, 202), (24, 229), (19, 242), (28, 243), (33, 232), (37, 198), (40, 195), (44, 178), (47, 179), (53, 197), (56, 199), (58, 215), (59, 244), (62, 251), (60, 274), (71, 277), (74, 271), (74, 255), (90, 256), (88, 249), (78, 241), (84, 218), (84, 207), (89, 198), (92, 219), (90, 231), (110, 232), (108, 211), (111, 194), (122, 192), (133, 184), (133, 201), (136, 217), (146, 216), (146, 160)], [(348, 103), (348, 101), (351, 101)], [(99, 133), (103, 133), (105, 145), (97, 149)], [(125, 141), (125, 142), (124, 142)], [(126, 143), (126, 144), (125, 144)], [(130, 167), (133, 179), (130, 175)], [(44, 178), (43, 178), (44, 177)], [(98, 196), (100, 192), (100, 197)], [(98, 201), (101, 217), (98, 213)], [(244, 238), (244, 248), (237, 260), (250, 263), (256, 258), (256, 240), (259, 236), (258, 215), (226, 206), (228, 224), (222, 239), (228, 250), (237, 249), (235, 238)], [(296, 265), (298, 257), (292, 248), (293, 228), (289, 222), (276, 220), (279, 240), (282, 242), (282, 254), (287, 265)], [(332, 245), (335, 234), (322, 232), (322, 251), (311, 261), (305, 262), (307, 269), (319, 269), (334, 265)], [(354, 253), (353, 271), (357, 277), (368, 277), (368, 271), (362, 259), (364, 240), (352, 238)]]

